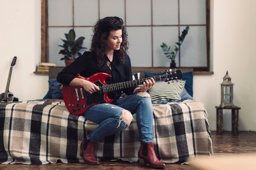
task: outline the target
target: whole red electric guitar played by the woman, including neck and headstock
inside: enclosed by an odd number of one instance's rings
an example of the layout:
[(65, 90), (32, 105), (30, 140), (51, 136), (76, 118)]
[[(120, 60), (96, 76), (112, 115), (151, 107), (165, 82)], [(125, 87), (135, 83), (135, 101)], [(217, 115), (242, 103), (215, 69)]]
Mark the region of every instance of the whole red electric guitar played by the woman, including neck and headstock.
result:
[(113, 99), (108, 98), (109, 92), (142, 85), (145, 80), (150, 78), (154, 78), (155, 81), (171, 81), (181, 79), (182, 76), (183, 74), (180, 70), (174, 72), (167, 72), (166, 70), (166, 72), (160, 76), (141, 78), (138, 80), (126, 81), (121, 83), (107, 84), (105, 81), (106, 78), (111, 77), (111, 75), (108, 73), (99, 72), (93, 74), (88, 78), (76, 75), (77, 78), (82, 78), (98, 85), (99, 91), (89, 94), (81, 86), (76, 87), (63, 85), (63, 99), (67, 110), (70, 111), (70, 113), (74, 115), (81, 115), (93, 105), (98, 105), (101, 103), (111, 103)]

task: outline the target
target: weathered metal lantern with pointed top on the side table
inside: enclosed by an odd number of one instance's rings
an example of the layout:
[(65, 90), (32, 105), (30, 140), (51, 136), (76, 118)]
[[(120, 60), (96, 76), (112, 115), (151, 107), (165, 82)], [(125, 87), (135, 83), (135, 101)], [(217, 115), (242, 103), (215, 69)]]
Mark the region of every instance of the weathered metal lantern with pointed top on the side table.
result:
[(226, 75), (223, 77), (223, 83), (221, 86), (221, 107), (232, 107), (233, 105), (233, 83), (231, 82), (231, 77), (228, 75), (228, 71)]

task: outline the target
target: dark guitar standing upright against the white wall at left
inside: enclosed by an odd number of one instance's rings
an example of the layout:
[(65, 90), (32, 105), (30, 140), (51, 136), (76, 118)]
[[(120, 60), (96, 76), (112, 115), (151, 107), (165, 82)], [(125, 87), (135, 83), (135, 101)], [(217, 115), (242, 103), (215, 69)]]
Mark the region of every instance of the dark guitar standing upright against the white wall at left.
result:
[(11, 72), (12, 72), (13, 66), (16, 63), (16, 59), (17, 59), (17, 57), (13, 57), (13, 60), (11, 62), (11, 68), (10, 68), (10, 71), (9, 71), (9, 76), (8, 76), (5, 92), (0, 94), (0, 101), (1, 102), (2, 101), (4, 101), (4, 102), (18, 101), (18, 98), (13, 97), (13, 94), (11, 92), (9, 92), (9, 85), (10, 85), (10, 80), (11, 80)]

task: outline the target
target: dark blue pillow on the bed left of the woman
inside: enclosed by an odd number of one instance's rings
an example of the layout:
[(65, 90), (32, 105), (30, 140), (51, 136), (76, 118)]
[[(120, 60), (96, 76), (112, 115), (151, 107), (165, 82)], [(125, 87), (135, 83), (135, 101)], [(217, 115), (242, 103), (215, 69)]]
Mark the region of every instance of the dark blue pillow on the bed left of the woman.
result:
[(58, 86), (58, 81), (56, 79), (50, 79), (48, 82), (50, 87), (44, 99), (63, 99), (61, 89)]

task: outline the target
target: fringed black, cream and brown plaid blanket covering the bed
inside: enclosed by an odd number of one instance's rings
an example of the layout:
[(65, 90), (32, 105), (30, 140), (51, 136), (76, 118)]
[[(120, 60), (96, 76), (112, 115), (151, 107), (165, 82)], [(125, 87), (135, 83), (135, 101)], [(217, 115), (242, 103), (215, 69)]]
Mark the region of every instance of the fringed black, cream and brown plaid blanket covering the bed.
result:
[[(153, 140), (157, 157), (165, 163), (213, 154), (207, 112), (200, 102), (153, 105)], [(0, 163), (47, 164), (83, 162), (80, 144), (97, 124), (70, 114), (63, 102), (1, 102)], [(102, 159), (137, 161), (140, 147), (134, 120), (120, 134), (95, 146)]]

